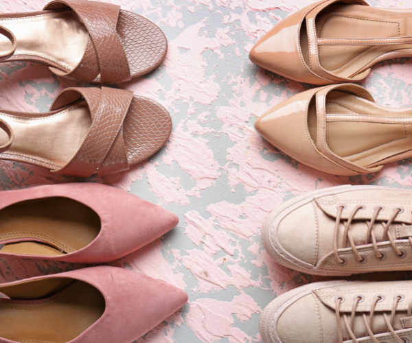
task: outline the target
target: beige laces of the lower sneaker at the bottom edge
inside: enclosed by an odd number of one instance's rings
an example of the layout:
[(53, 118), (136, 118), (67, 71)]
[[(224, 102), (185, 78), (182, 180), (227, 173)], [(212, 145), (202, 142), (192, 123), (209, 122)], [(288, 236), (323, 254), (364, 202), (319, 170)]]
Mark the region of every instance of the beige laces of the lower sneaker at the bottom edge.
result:
[[(387, 331), (390, 332), (393, 336), (393, 338), (396, 339), (398, 343), (405, 343), (409, 342), (408, 340), (404, 340), (403, 338), (400, 338), (396, 331), (393, 329), (393, 319), (395, 318), (396, 315), (396, 308), (398, 307), (398, 303), (402, 301), (404, 296), (402, 295), (397, 295), (393, 298), (393, 306), (392, 306), (392, 311), (391, 311), (391, 316), (388, 318), (388, 315), (384, 312), (383, 313), (383, 318), (385, 320), (385, 323), (387, 324)], [(353, 326), (354, 326), (354, 319), (355, 319), (355, 314), (356, 314), (356, 307), (358, 306), (358, 303), (361, 303), (363, 301), (363, 296), (356, 296), (354, 298), (354, 305), (352, 306), (352, 314), (350, 316), (350, 321), (348, 320), (347, 314), (343, 314), (343, 322), (345, 324), (345, 327), (347, 329), (347, 332), (350, 335), (350, 338), (353, 340), (354, 343), (358, 343), (357, 338), (354, 335), (353, 331)], [(336, 297), (336, 320), (338, 324), (338, 337), (339, 337), (339, 342), (343, 343), (343, 333), (342, 333), (342, 327), (341, 327), (341, 313), (340, 313), (340, 308), (341, 308), (341, 303), (343, 303), (345, 299), (343, 296), (338, 296)], [(372, 332), (372, 328), (374, 325), (374, 313), (375, 313), (375, 308), (376, 304), (379, 303), (380, 301), (383, 300), (383, 296), (377, 295), (374, 298), (374, 302), (371, 305), (371, 311), (369, 313), (369, 320), (367, 319), (367, 316), (365, 313), (362, 314), (363, 322), (365, 323), (365, 327), (367, 329), (367, 333), (369, 337), (371, 338), (372, 341), (375, 343), (380, 343), (377, 339), (374, 333)], [(409, 303), (409, 308), (408, 308), (408, 317), (412, 315), (412, 300)]]

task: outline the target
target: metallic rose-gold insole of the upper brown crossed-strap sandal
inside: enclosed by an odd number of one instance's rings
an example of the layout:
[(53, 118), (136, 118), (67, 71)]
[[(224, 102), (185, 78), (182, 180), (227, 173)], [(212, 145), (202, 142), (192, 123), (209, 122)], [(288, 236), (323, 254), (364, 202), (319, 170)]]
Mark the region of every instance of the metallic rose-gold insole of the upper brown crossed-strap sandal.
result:
[[(73, 70), (82, 60), (89, 34), (77, 14), (73, 11), (52, 12), (1, 18), (0, 26), (16, 37), (14, 56), (37, 56), (52, 65), (60, 65), (63, 70)], [(0, 53), (12, 49), (8, 38), (0, 35)]]

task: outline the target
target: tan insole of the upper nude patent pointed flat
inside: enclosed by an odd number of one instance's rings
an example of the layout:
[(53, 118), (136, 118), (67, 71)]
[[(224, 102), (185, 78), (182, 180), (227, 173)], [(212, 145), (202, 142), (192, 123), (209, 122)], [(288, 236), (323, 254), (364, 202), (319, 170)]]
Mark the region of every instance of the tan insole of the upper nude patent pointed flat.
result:
[[(320, 38), (387, 38), (412, 36), (411, 10), (385, 10), (363, 5), (331, 5), (317, 16)], [(335, 75), (354, 77), (389, 51), (405, 45), (325, 45), (319, 47), (321, 65)], [(406, 56), (409, 56), (406, 54)]]

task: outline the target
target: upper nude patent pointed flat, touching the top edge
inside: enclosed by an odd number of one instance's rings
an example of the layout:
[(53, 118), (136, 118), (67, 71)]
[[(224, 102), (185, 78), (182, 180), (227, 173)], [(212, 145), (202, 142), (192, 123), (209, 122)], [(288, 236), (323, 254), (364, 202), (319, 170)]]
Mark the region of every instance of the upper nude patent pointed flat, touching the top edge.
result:
[(356, 82), (377, 62), (412, 56), (411, 15), (412, 10), (374, 8), (363, 0), (319, 1), (271, 29), (250, 59), (298, 82)]

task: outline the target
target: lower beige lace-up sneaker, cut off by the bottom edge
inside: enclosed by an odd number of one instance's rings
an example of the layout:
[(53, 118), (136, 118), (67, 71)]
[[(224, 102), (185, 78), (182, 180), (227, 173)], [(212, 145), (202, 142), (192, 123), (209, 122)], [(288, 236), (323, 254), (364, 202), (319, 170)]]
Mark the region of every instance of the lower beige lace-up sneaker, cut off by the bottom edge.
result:
[(264, 343), (409, 343), (411, 328), (412, 281), (311, 283), (260, 317)]

